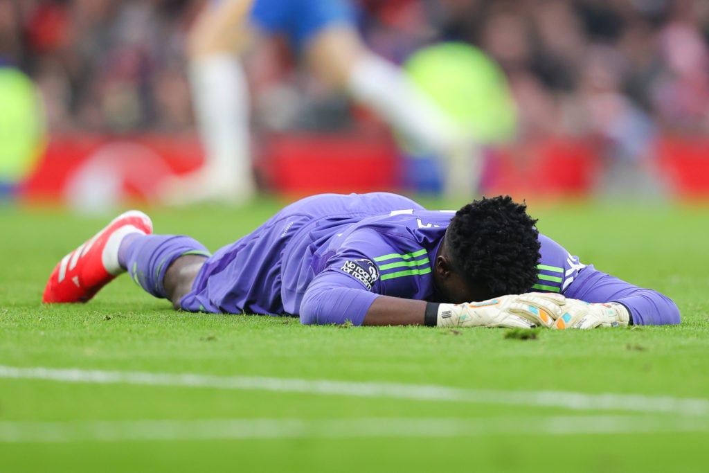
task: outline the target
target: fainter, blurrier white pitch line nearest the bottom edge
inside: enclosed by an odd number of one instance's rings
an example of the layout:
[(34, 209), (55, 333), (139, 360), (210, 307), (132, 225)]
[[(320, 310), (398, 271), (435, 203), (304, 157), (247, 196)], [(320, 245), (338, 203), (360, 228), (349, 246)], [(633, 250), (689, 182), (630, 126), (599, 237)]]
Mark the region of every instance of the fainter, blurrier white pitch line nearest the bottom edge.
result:
[(479, 435), (609, 435), (709, 432), (697, 418), (550, 416), (503, 418), (199, 419), (0, 422), (0, 443), (279, 438), (445, 438)]

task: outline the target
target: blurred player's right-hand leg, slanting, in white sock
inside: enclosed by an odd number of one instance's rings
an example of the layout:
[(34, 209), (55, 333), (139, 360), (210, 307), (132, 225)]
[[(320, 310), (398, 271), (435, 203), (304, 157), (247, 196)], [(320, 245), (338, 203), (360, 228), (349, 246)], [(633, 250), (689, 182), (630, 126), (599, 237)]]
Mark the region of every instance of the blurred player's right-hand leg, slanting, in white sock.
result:
[(421, 154), (442, 158), (447, 189), (470, 194), (479, 179), (479, 149), (445, 111), (415, 87), (403, 70), (369, 51), (357, 30), (335, 23), (307, 43), (313, 72), (333, 87), (346, 90), (401, 133)]

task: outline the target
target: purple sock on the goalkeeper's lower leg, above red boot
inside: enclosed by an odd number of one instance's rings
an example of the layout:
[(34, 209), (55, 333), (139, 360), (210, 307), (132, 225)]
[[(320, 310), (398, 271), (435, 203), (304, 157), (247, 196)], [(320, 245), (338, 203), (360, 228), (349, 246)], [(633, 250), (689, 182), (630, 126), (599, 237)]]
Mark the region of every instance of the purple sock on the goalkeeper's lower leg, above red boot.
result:
[(163, 279), (169, 265), (183, 255), (211, 256), (194, 238), (178, 235), (127, 235), (118, 248), (118, 262), (136, 284), (167, 299)]

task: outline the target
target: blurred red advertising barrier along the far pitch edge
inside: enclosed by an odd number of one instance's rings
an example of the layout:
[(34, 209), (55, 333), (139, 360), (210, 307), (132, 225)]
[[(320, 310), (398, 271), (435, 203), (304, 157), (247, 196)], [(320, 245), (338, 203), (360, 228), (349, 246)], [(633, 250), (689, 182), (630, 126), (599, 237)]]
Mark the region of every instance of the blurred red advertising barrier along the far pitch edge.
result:
[[(281, 194), (435, 191), (435, 163), (428, 163), (425, 175), (406, 172), (412, 165), (420, 169), (420, 162), (401, 157), (386, 137), (283, 133), (262, 140), (257, 149), (259, 181)], [(655, 151), (654, 165), (669, 181), (673, 196), (709, 198), (709, 138), (666, 137)], [(21, 198), (69, 204), (83, 200), (96, 208), (124, 199), (149, 202), (160, 179), (196, 169), (202, 160), (196, 135), (55, 135)], [(602, 169), (593, 140), (551, 138), (492, 147), (486, 153), (483, 191), (584, 197)], [(94, 173), (104, 179), (94, 179), (92, 185)]]

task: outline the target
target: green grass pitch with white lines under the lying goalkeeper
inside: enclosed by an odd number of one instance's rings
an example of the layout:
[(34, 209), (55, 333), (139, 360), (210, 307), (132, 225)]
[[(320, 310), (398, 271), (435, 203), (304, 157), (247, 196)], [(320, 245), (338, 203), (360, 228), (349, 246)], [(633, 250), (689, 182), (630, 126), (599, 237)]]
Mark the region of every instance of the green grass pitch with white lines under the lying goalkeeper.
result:
[[(150, 213), (216, 250), (281, 204)], [(530, 213), (583, 262), (671, 296), (683, 323), (313, 327), (174, 312), (125, 276), (42, 306), (55, 263), (111, 216), (0, 206), (0, 471), (709, 471), (709, 207)]]

